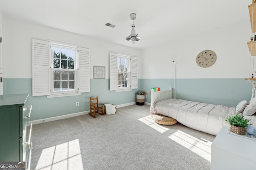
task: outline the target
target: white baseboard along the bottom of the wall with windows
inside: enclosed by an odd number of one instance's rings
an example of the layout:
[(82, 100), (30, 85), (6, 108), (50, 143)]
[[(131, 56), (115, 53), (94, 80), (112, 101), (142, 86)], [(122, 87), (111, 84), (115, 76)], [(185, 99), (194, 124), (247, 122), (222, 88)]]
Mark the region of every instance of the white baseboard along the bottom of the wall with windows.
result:
[[(116, 107), (119, 108), (119, 107), (134, 105), (134, 104), (136, 104), (136, 102), (127, 103), (127, 104), (120, 104), (120, 105), (117, 105)], [(85, 115), (85, 114), (88, 114), (88, 112), (90, 112), (90, 110), (82, 111), (82, 112), (78, 112), (78, 113), (71, 113), (71, 114), (67, 114), (67, 115), (49, 117), (49, 118), (45, 118), (45, 119), (32, 120), (32, 121), (29, 121), (29, 123), (32, 123), (33, 125), (35, 125), (35, 124), (39, 124), (39, 123), (44, 123), (44, 122), (49, 122), (49, 121), (55, 121), (55, 120), (60, 120), (60, 119), (66, 119), (66, 118), (70, 118), (70, 117)]]

